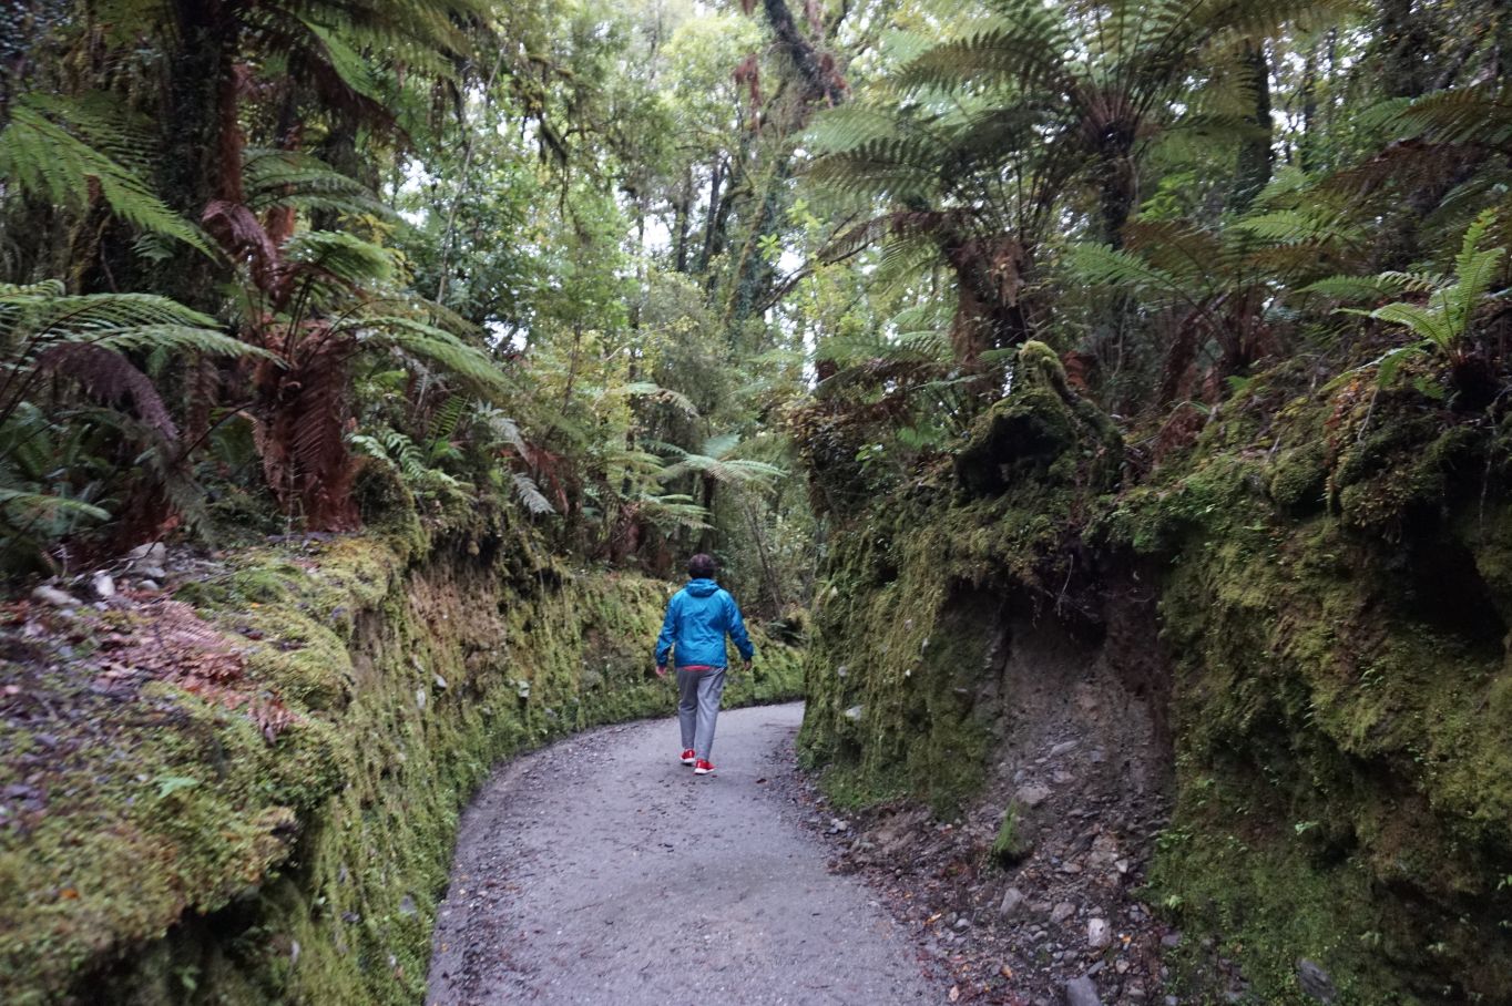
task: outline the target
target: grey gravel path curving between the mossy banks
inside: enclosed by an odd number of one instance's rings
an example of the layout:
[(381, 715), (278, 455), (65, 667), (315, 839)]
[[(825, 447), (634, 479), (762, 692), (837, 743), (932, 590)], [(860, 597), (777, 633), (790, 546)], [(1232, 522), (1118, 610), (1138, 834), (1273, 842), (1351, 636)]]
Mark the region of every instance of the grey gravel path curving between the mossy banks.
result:
[(826, 869), (774, 793), (801, 716), (721, 713), (702, 778), (677, 763), (671, 719), (499, 772), (463, 819), (428, 1001), (943, 1001), (907, 933)]

